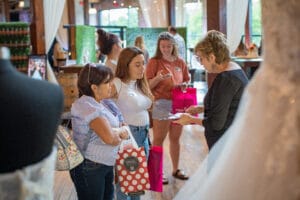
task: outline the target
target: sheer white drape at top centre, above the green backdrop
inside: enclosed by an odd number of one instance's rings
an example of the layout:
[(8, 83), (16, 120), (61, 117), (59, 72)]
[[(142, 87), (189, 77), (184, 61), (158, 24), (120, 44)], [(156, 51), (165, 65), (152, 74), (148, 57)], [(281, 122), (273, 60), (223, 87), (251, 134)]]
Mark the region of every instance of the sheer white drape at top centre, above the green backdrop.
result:
[(139, 0), (146, 27), (166, 27), (169, 25), (167, 0)]

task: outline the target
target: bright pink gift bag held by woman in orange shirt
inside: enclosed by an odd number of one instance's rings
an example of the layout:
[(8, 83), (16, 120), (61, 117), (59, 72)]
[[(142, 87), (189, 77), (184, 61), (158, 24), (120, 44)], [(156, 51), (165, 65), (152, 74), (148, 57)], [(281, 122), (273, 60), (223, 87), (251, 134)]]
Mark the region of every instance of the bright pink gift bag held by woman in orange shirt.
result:
[(197, 89), (174, 88), (172, 90), (172, 113), (183, 113), (185, 109), (192, 105), (197, 105)]

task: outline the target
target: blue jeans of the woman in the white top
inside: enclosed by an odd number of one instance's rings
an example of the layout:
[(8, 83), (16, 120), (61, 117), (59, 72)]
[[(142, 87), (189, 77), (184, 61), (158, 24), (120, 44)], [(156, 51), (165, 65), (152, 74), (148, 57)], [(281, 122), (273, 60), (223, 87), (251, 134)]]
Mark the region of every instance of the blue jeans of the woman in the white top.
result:
[[(134, 137), (139, 147), (144, 147), (145, 154), (149, 157), (149, 125), (146, 126), (131, 126), (129, 125), (132, 136)], [(140, 200), (140, 196), (128, 196), (121, 192), (119, 184), (116, 184), (117, 200)]]

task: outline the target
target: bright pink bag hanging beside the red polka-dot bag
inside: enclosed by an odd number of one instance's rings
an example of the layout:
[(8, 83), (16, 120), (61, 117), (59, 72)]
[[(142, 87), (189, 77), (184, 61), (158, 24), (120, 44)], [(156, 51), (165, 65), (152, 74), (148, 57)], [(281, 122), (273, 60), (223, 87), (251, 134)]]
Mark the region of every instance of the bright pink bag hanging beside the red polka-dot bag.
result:
[(163, 191), (163, 148), (152, 146), (149, 152), (148, 173), (150, 190), (155, 192)]

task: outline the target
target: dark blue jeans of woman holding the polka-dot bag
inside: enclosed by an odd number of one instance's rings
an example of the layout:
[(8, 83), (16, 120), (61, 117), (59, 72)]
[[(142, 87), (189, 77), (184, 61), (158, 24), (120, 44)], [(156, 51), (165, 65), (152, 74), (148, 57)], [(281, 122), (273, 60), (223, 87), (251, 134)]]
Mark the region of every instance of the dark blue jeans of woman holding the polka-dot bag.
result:
[(112, 200), (114, 197), (113, 166), (85, 159), (70, 170), (78, 200)]

